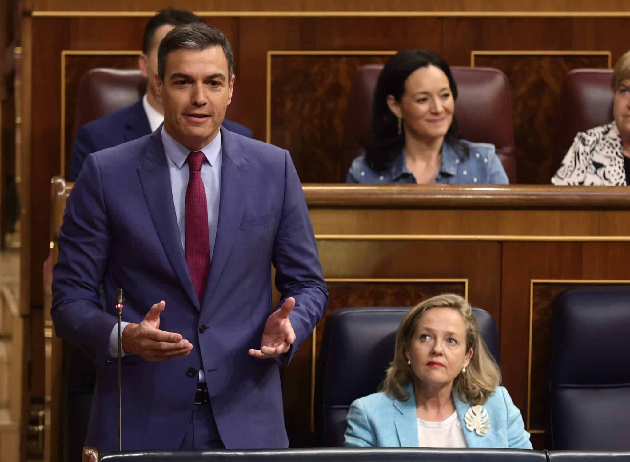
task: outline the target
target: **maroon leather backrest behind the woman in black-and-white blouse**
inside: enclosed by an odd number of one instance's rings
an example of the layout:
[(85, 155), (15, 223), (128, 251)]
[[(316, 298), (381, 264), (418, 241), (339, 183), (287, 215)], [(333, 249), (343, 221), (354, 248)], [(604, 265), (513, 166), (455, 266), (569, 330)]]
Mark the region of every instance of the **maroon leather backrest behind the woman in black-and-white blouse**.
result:
[(576, 133), (612, 121), (611, 77), (612, 69), (573, 69), (564, 76), (554, 138), (556, 169)]

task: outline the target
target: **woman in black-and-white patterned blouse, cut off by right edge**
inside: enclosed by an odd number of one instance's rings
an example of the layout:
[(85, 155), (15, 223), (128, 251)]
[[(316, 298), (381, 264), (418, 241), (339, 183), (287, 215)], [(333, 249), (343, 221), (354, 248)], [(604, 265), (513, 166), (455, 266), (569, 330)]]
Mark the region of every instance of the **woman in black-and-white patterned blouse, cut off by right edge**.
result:
[(575, 135), (562, 165), (551, 178), (559, 185), (626, 186), (630, 174), (630, 51), (615, 65), (610, 79), (615, 92), (607, 125)]

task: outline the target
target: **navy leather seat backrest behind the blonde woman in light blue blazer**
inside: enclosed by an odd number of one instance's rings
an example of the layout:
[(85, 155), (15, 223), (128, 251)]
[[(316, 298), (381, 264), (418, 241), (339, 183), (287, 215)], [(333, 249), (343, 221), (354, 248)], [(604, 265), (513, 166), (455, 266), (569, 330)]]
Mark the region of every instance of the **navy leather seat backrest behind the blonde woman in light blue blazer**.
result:
[[(343, 446), (350, 404), (374, 393), (394, 358), (396, 330), (410, 307), (341, 308), (326, 318), (315, 390), (316, 432), (322, 446)], [(473, 308), (481, 335), (500, 364), (496, 325)]]

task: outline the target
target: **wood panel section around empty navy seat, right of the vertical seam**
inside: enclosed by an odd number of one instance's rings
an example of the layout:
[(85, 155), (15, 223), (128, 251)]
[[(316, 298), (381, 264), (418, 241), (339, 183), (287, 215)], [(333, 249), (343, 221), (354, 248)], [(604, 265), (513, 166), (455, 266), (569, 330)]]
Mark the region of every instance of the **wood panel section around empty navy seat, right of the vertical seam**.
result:
[[(554, 298), (580, 285), (630, 283), (629, 242), (504, 242), (503, 381), (527, 429), (549, 428), (549, 346)], [(530, 324), (531, 323), (531, 324)], [(523, 329), (530, 325), (530, 329)], [(537, 437), (544, 444), (548, 435)], [(541, 448), (541, 446), (539, 446)]]

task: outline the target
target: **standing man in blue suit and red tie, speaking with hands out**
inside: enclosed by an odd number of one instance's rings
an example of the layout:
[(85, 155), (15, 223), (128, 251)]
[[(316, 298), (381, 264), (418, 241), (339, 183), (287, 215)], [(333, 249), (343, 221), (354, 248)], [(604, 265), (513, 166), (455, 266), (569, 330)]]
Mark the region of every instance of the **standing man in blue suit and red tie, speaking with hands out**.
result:
[(278, 366), (328, 291), (289, 152), (221, 127), (232, 66), (221, 31), (169, 32), (163, 126), (88, 155), (68, 198), (51, 314), (96, 364), (86, 444), (100, 451), (117, 448), (117, 288), (123, 450), (288, 445)]

